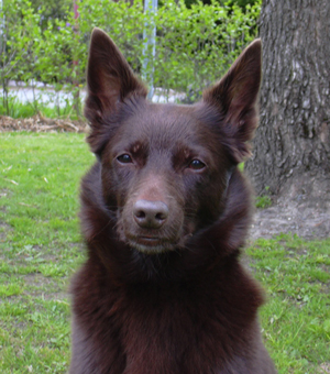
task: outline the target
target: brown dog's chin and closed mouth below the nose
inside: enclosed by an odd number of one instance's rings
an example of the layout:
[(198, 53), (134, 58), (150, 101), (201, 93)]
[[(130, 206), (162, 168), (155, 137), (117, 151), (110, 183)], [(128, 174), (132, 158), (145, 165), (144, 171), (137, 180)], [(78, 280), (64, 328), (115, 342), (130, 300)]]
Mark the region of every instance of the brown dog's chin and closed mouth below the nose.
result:
[(160, 254), (174, 251), (176, 243), (160, 238), (134, 237), (128, 239), (128, 244), (139, 252), (145, 254)]

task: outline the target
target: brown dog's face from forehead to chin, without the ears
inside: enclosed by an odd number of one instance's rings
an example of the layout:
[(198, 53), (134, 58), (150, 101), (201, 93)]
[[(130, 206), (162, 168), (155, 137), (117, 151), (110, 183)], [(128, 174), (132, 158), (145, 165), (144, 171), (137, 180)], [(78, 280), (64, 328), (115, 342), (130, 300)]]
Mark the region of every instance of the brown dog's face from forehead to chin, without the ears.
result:
[(101, 154), (105, 201), (131, 246), (183, 246), (219, 216), (230, 162), (200, 109), (133, 101)]

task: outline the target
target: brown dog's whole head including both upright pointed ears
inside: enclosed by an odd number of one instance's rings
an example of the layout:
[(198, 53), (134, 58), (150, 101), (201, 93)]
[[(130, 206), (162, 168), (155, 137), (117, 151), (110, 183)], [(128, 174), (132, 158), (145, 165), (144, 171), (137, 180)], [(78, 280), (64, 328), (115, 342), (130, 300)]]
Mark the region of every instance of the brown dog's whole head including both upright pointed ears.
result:
[(184, 248), (226, 206), (256, 125), (261, 45), (254, 42), (195, 106), (156, 105), (113, 42), (95, 30), (85, 113), (102, 196), (119, 239), (145, 253)]

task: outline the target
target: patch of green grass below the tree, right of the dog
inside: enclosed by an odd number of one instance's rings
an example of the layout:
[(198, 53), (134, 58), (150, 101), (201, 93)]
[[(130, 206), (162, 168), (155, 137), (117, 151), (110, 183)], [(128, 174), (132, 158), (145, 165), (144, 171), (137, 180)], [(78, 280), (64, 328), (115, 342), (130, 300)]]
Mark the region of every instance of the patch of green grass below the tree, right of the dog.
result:
[(246, 252), (267, 290), (262, 326), (279, 373), (329, 373), (330, 239), (282, 234), (258, 239)]

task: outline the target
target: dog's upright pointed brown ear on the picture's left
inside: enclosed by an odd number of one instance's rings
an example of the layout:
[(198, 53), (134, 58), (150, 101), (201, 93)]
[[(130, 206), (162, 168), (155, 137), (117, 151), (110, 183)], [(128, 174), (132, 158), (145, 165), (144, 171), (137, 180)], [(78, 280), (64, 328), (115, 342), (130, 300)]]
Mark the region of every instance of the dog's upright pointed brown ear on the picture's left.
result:
[(88, 142), (91, 151), (97, 152), (97, 139), (103, 133), (105, 118), (114, 113), (118, 105), (128, 97), (146, 97), (147, 94), (117, 45), (97, 28), (90, 38), (87, 91), (85, 117), (91, 124)]

